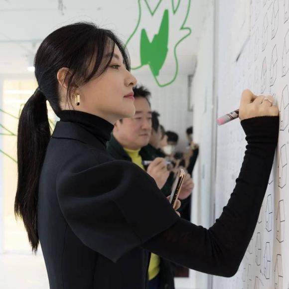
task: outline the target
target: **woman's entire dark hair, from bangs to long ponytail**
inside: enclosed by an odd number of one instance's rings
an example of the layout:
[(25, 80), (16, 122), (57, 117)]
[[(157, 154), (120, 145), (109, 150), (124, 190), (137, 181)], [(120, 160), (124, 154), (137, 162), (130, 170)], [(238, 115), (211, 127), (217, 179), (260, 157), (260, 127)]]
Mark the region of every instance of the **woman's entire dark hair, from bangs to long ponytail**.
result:
[(32, 250), (37, 251), (37, 202), (40, 171), (50, 140), (46, 100), (56, 115), (60, 112), (57, 72), (65, 67), (66, 103), (71, 104), (78, 86), (102, 75), (108, 68), (117, 45), (130, 70), (123, 43), (110, 30), (93, 23), (74, 23), (49, 34), (40, 44), (34, 59), (38, 88), (23, 107), (18, 124), (18, 183), (14, 211), (21, 217)]

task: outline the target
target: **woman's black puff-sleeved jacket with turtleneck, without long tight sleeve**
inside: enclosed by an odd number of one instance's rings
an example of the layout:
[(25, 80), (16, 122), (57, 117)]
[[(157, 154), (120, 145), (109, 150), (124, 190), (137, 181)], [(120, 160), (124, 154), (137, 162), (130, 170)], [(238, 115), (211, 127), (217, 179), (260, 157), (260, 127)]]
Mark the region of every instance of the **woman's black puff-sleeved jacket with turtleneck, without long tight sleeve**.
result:
[(141, 245), (179, 218), (153, 178), (109, 155), (113, 126), (77, 115), (97, 130), (57, 122), (39, 181), (38, 234), (50, 289), (144, 289), (149, 253)]

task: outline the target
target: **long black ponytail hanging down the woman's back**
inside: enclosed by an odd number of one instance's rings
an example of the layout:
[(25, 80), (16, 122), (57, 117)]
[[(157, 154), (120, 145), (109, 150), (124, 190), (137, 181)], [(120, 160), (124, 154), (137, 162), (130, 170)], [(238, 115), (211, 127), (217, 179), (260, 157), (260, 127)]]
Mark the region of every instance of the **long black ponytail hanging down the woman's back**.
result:
[(37, 233), (39, 172), (49, 139), (46, 98), (39, 89), (36, 89), (24, 105), (18, 124), (18, 183), (14, 204), (15, 215), (23, 219), (34, 252), (37, 251), (39, 244)]

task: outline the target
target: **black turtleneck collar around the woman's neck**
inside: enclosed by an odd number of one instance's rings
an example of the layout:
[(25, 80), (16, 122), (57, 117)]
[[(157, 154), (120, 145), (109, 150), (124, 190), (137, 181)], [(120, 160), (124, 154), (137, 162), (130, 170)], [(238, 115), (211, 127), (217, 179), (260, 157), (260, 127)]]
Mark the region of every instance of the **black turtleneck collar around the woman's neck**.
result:
[(61, 122), (72, 122), (81, 126), (94, 135), (104, 145), (111, 139), (114, 125), (101, 117), (73, 110), (60, 111), (58, 117)]

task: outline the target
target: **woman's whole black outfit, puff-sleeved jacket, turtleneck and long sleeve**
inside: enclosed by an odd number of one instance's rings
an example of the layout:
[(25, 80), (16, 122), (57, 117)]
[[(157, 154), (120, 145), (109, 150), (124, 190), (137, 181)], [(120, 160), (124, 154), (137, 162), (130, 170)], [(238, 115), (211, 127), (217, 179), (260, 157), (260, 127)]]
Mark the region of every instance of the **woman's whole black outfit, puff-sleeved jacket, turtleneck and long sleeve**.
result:
[(279, 117), (241, 122), (248, 141), (242, 168), (228, 204), (206, 229), (179, 218), (138, 165), (112, 159), (105, 148), (111, 124), (76, 116), (82, 123), (60, 115), (68, 122), (57, 123), (40, 174), (37, 227), (50, 288), (144, 289), (148, 252), (232, 277), (258, 221)]

